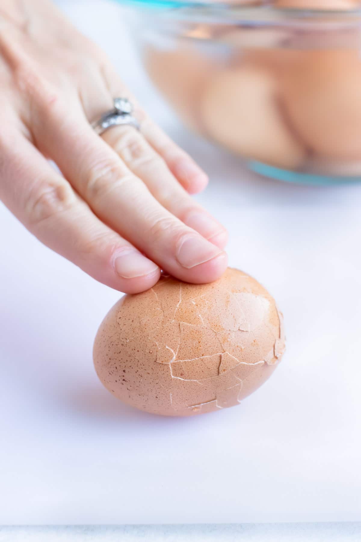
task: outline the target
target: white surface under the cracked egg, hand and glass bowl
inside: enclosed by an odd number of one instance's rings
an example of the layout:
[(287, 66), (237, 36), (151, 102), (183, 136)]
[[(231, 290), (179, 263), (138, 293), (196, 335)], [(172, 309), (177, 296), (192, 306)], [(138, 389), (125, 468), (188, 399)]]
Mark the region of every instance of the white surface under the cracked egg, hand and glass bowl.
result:
[(91, 360), (120, 294), (0, 208), (0, 523), (361, 520), (361, 185), (247, 173), (181, 128), (142, 74), (119, 8), (63, 5), (211, 174), (199, 199), (229, 228), (230, 264), (283, 310), (287, 352), (237, 408), (173, 419), (122, 405)]

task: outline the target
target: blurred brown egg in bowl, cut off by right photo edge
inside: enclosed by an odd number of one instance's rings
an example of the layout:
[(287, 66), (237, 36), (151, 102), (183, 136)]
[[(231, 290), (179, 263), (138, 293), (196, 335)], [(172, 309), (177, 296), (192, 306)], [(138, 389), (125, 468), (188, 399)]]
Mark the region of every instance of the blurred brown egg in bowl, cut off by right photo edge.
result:
[(361, 158), (358, 50), (304, 51), (283, 88), (288, 117), (307, 146), (324, 157)]

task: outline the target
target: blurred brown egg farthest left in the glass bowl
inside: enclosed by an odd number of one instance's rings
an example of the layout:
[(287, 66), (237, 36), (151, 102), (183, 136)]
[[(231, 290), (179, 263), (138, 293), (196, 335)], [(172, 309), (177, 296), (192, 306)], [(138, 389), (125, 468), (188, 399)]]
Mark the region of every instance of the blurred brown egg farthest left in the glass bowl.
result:
[(156, 87), (175, 107), (185, 124), (198, 131), (200, 93), (216, 69), (214, 63), (191, 46), (172, 50), (149, 47), (144, 61)]

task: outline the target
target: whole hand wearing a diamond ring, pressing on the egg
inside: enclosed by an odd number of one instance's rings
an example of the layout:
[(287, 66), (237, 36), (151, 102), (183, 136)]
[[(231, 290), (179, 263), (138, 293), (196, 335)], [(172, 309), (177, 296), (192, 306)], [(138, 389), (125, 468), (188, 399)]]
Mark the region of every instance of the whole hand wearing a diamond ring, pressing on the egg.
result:
[[(117, 96), (135, 104), (141, 130), (99, 137), (89, 123)], [(226, 231), (189, 195), (205, 173), (48, 0), (2, 0), (0, 115), (0, 198), (48, 247), (129, 293), (160, 269), (196, 283), (224, 272)]]

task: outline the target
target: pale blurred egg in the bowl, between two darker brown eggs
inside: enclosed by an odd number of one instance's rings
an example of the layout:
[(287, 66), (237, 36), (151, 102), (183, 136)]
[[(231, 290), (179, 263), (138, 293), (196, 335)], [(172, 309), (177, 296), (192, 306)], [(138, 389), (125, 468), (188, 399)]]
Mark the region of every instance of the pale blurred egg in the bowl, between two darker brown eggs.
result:
[(266, 69), (245, 65), (215, 75), (200, 112), (208, 135), (237, 154), (286, 169), (305, 157), (283, 117), (277, 79)]

